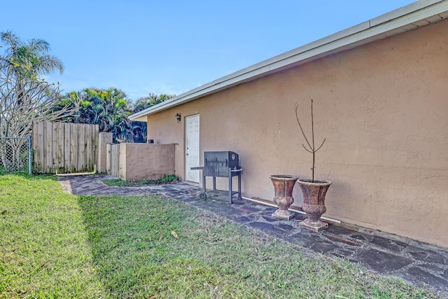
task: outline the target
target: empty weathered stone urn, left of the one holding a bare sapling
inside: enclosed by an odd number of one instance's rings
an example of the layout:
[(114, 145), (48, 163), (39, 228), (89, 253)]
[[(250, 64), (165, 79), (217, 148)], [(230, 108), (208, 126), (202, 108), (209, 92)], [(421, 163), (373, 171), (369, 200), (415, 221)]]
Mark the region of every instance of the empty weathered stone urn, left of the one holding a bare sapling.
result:
[(294, 202), (293, 189), (297, 181), (297, 176), (276, 174), (270, 176), (270, 178), (275, 190), (274, 202), (279, 208), (272, 213), (272, 217), (288, 220), (293, 218), (295, 214), (292, 211), (288, 211), (288, 209)]

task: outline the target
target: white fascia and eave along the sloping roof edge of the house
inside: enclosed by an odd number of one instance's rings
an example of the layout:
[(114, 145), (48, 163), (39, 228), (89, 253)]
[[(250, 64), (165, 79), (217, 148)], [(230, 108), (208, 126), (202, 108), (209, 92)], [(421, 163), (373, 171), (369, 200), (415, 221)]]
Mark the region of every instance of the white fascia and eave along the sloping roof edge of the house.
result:
[(377, 39), (384, 39), (388, 36), (414, 29), (418, 27), (415, 23), (419, 25), (427, 25), (429, 22), (421, 22), (421, 20), (432, 20), (431, 18), (435, 15), (439, 18), (433, 19), (440, 20), (442, 18), (441, 15), (446, 15), (447, 11), (448, 0), (416, 1), (413, 4), (398, 8), (395, 11), (391, 11), (390, 13), (386, 13), (385, 15), (381, 15), (370, 21), (363, 22), (323, 39), (319, 39), (281, 55), (269, 58), (258, 64), (253, 64), (250, 67), (218, 78), (188, 92), (184, 92), (177, 97), (140, 111), (139, 113), (135, 113), (130, 116), (130, 119), (137, 120), (137, 118), (141, 118), (142, 116), (147, 116), (172, 106), (193, 101), (194, 99), (210, 95), (225, 88), (230, 88), (233, 85), (253, 80), (259, 76), (264, 76), (274, 71), (293, 67)]

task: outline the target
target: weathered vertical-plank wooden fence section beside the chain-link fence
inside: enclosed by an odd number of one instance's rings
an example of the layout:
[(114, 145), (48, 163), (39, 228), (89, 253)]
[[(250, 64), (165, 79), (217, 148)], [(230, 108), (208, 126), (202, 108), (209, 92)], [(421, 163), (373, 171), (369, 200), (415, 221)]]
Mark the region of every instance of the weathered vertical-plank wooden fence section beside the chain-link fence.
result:
[(97, 163), (98, 134), (98, 125), (34, 123), (34, 172), (93, 172)]

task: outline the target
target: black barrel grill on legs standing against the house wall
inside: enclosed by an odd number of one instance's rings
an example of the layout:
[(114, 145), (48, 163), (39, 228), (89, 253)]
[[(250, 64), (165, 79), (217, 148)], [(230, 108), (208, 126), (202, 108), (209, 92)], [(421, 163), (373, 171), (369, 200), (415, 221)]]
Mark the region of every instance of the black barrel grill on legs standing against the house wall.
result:
[[(229, 201), (233, 203), (232, 197), (238, 194), (241, 200), (241, 167), (239, 167), (239, 155), (232, 151), (206, 151), (204, 152), (204, 166), (192, 167), (202, 169), (202, 193), (200, 197), (205, 200), (207, 193), (205, 181), (207, 176), (213, 177), (213, 190), (216, 191), (216, 177), (227, 177), (229, 179)], [(232, 191), (232, 177), (238, 176), (238, 191)]]

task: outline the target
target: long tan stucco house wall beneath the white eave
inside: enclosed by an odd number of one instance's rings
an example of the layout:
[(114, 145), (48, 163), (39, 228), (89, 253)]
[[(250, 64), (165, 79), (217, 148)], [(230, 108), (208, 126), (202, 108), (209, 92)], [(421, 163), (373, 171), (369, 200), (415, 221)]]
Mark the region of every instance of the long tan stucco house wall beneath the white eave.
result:
[[(155, 113), (148, 138), (179, 144), (183, 176), (184, 119), (174, 115), (199, 113), (201, 156), (239, 153), (243, 195), (272, 200), (269, 175), (311, 175), (293, 108), (309, 132), (312, 98), (316, 142), (327, 138), (316, 178), (333, 182), (325, 216), (448, 246), (447, 66), (441, 21)], [(294, 196), (302, 204), (298, 186)]]

